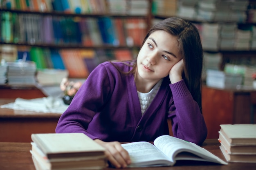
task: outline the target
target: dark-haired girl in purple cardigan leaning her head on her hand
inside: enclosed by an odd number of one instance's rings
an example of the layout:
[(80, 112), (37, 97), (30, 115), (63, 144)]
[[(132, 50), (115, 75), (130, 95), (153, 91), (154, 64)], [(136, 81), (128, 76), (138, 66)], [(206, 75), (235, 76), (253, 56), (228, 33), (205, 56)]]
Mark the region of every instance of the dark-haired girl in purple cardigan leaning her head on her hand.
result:
[(106, 148), (116, 168), (130, 164), (119, 142), (153, 141), (169, 134), (202, 144), (202, 44), (198, 30), (167, 18), (147, 33), (135, 61), (104, 62), (90, 73), (61, 115), (57, 133), (82, 132)]

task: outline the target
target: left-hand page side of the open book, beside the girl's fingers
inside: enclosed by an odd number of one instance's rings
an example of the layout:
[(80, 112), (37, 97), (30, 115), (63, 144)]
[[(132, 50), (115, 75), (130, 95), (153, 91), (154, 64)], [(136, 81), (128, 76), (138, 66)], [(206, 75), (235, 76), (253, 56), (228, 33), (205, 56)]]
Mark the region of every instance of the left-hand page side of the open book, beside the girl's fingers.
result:
[(132, 142), (122, 144), (124, 149), (129, 152), (132, 164), (130, 167), (138, 166), (170, 166), (172, 163), (159, 149), (149, 142)]

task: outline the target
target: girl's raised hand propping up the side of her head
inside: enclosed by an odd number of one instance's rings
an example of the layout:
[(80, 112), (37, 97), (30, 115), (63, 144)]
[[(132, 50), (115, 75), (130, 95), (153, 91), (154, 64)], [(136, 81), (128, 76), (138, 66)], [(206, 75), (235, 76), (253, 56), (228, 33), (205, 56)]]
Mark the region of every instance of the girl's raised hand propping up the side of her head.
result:
[(183, 71), (184, 71), (184, 62), (183, 62), (183, 59), (181, 59), (170, 70), (169, 78), (172, 84), (182, 80)]

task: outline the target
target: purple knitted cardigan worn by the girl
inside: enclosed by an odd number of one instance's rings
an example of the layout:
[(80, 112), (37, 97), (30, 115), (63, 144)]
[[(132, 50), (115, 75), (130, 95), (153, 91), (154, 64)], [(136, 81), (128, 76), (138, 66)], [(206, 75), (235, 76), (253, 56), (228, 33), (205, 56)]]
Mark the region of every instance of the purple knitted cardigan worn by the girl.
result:
[[(132, 68), (121, 62), (115, 66), (124, 72)], [(115, 66), (104, 62), (90, 73), (61, 115), (56, 133), (82, 132), (103, 141), (153, 141), (169, 134), (169, 117), (175, 137), (202, 144), (207, 127), (184, 80), (171, 84), (165, 77), (141, 116), (134, 76), (120, 73)]]

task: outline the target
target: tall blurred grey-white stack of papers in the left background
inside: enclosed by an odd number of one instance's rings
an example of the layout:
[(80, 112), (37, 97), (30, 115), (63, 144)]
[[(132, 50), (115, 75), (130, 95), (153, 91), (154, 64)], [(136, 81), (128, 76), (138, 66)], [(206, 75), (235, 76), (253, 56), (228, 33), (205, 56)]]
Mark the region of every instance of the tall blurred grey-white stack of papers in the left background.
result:
[(34, 85), (36, 64), (34, 62), (7, 62), (9, 85)]

